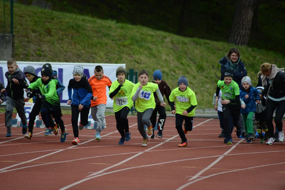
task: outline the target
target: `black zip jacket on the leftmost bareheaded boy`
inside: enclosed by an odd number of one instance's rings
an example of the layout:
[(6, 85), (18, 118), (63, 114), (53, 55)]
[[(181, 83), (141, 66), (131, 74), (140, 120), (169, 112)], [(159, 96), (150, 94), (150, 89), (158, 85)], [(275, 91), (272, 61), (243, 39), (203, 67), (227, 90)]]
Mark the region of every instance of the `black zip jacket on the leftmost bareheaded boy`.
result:
[[(8, 80), (7, 87), (5, 88), (7, 96), (13, 98), (14, 100), (24, 99), (24, 89), (27, 89), (29, 85), (25, 79), (24, 73), (20, 70), (20, 68), (18, 67), (12, 75), (10, 75), (10, 73), (7, 71), (5, 73), (5, 77)], [(19, 84), (14, 83), (12, 79), (17, 79)]]

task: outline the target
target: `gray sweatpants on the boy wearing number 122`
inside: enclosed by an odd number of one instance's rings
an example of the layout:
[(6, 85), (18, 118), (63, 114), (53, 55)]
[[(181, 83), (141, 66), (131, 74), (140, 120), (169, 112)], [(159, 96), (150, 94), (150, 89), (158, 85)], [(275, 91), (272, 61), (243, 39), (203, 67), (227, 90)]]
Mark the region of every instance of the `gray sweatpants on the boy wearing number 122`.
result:
[(138, 118), (138, 130), (141, 133), (143, 139), (147, 139), (146, 130), (144, 129), (144, 125), (150, 127), (150, 116), (152, 115), (153, 108), (146, 109), (144, 112), (137, 111), (137, 118)]

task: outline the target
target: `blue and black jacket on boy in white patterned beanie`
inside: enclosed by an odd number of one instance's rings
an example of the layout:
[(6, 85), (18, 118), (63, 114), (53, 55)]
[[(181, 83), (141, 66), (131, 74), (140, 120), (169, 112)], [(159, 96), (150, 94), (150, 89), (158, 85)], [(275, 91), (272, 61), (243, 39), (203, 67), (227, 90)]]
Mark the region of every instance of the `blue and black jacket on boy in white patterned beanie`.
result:
[[(72, 94), (73, 89), (73, 94)], [(92, 88), (85, 77), (80, 81), (70, 79), (68, 83), (68, 100), (71, 100), (72, 105), (83, 105), (84, 108), (91, 106), (91, 97), (93, 95)]]

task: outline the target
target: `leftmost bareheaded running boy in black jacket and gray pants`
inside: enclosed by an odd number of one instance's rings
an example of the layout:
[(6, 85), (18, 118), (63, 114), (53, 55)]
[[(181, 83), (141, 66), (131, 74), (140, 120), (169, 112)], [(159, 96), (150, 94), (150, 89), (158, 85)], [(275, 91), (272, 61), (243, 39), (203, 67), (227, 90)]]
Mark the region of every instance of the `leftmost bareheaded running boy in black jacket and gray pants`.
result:
[(14, 107), (23, 123), (22, 134), (26, 134), (28, 131), (27, 117), (24, 108), (24, 89), (27, 89), (28, 84), (24, 73), (18, 67), (15, 59), (9, 59), (7, 61), (7, 67), (8, 71), (5, 73), (5, 77), (8, 83), (7, 87), (1, 90), (1, 93), (7, 92), (5, 126), (7, 127), (6, 137), (11, 137), (11, 121)]

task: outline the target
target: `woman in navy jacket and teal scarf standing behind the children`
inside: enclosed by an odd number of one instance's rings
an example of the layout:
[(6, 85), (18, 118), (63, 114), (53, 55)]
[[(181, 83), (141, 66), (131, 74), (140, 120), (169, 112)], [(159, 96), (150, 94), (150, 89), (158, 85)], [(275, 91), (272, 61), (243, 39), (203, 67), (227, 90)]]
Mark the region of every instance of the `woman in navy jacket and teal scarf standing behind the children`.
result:
[[(245, 64), (241, 61), (241, 53), (238, 48), (231, 48), (225, 57), (223, 57), (219, 63), (221, 64), (221, 81), (224, 80), (225, 70), (233, 70), (233, 81), (235, 81), (239, 88), (241, 88), (241, 80), (243, 77), (247, 76), (247, 70), (245, 69)], [(216, 96), (219, 96), (219, 87), (216, 89)], [(245, 138), (245, 127), (243, 124), (243, 117), (239, 118), (240, 129), (237, 129), (237, 136)]]

